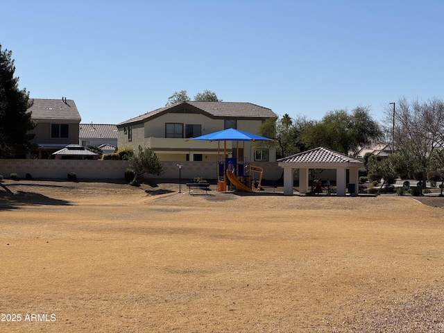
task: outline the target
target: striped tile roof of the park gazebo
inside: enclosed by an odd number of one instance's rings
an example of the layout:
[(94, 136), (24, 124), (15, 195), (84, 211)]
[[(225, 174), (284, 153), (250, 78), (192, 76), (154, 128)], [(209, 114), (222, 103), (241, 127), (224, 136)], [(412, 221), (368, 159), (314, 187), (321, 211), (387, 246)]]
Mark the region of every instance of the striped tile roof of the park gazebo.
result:
[(348, 155), (332, 151), (331, 149), (318, 147), (311, 151), (303, 151), (288, 157), (281, 158), (278, 162), (286, 163), (357, 163), (364, 162), (357, 160)]

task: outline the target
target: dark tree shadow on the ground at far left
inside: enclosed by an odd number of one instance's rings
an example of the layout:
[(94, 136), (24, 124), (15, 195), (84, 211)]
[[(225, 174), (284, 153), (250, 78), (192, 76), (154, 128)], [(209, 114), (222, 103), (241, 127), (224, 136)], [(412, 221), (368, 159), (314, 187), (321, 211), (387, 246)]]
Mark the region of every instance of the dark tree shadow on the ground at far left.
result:
[(0, 210), (15, 210), (24, 205), (71, 205), (71, 203), (34, 192), (13, 193), (6, 185), (0, 184)]

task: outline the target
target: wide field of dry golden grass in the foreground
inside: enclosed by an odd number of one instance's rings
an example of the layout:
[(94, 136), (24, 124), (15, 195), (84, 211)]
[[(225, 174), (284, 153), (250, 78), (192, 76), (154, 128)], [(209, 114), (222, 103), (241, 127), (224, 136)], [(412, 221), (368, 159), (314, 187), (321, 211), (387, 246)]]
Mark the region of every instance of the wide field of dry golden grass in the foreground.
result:
[(443, 198), (177, 190), (3, 182), (0, 332), (444, 332)]

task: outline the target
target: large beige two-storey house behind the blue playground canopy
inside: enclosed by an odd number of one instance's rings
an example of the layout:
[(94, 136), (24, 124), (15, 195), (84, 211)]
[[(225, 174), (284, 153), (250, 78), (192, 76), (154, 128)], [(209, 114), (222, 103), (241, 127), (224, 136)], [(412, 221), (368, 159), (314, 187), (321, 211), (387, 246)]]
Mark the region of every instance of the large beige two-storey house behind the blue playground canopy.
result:
[(186, 141), (226, 128), (257, 133), (266, 119), (278, 116), (268, 108), (252, 103), (182, 102), (159, 108), (117, 124), (119, 148), (139, 145), (153, 149), (162, 161), (216, 161), (224, 149), (230, 156), (249, 162), (275, 162), (275, 148), (251, 142)]

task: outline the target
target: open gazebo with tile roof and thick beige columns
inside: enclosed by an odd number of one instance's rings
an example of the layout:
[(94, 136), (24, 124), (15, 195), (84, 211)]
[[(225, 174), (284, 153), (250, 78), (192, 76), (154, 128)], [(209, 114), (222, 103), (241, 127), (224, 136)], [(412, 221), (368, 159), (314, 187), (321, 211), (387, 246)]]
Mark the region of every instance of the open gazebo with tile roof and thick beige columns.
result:
[(359, 169), (364, 162), (324, 147), (311, 149), (278, 160), (279, 167), (284, 169), (284, 195), (293, 195), (293, 169), (299, 169), (299, 192), (309, 191), (309, 169), (336, 169), (336, 195), (345, 196), (347, 169), (350, 171), (350, 183), (359, 182)]

